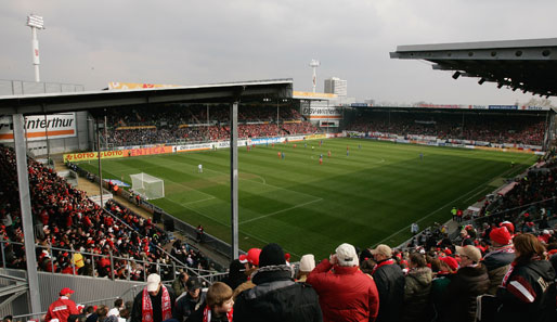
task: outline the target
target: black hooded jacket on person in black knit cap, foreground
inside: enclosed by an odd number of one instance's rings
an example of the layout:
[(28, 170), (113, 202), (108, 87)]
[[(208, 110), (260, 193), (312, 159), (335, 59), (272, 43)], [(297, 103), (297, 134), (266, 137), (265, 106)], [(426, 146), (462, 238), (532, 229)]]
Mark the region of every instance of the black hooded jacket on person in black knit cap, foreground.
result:
[(323, 321), (315, 291), (292, 275), (287, 265), (260, 268), (251, 279), (256, 286), (236, 297), (234, 321)]

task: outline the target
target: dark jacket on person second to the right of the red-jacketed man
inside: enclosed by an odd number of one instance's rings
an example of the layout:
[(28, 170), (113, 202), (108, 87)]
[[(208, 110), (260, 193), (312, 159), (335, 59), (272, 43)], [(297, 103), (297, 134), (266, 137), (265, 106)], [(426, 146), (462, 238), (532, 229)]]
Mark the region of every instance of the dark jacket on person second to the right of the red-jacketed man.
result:
[(432, 315), (430, 291), (432, 273), (428, 267), (409, 271), (404, 285), (404, 309), (401, 321), (429, 321)]

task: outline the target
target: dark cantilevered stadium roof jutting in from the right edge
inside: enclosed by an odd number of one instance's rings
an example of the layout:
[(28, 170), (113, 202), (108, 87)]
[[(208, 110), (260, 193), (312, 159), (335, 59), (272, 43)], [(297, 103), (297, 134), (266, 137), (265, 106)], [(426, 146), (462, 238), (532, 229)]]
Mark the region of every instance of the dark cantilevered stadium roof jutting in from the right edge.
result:
[(425, 60), (453, 78), (477, 77), (511, 90), (557, 95), (557, 38), (399, 46), (391, 59)]

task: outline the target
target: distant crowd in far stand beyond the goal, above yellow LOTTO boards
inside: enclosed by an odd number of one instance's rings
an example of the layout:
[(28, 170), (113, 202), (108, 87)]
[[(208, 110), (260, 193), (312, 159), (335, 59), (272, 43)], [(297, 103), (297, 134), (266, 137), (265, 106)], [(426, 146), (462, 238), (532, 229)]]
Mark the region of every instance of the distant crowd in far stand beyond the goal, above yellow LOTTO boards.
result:
[[(230, 106), (132, 107), (108, 112), (106, 141), (115, 146), (230, 139)], [(278, 117), (278, 119), (277, 119)], [(318, 129), (289, 105), (239, 105), (238, 138), (314, 133)]]

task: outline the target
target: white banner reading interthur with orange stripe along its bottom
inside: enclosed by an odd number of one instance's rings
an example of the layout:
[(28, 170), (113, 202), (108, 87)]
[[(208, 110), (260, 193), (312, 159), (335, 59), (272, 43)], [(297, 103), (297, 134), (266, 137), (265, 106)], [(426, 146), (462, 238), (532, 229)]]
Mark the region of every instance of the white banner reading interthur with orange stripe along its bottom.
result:
[[(76, 114), (63, 113), (25, 117), (25, 132), (28, 141), (76, 137)], [(11, 116), (0, 118), (0, 142), (13, 141), (13, 123)]]

